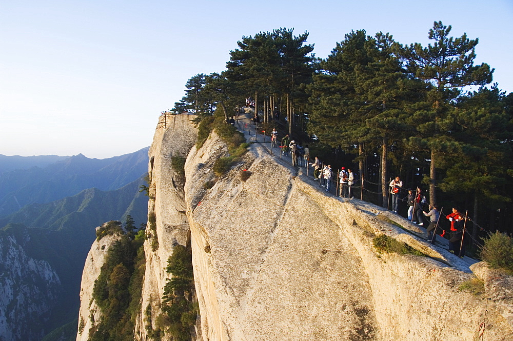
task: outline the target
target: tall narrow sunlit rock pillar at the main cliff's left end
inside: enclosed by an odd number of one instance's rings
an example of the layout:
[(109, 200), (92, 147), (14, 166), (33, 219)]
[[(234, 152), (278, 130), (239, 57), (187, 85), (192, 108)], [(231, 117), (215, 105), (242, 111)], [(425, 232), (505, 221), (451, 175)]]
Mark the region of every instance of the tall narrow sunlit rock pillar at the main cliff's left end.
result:
[[(146, 340), (157, 329), (161, 299), (169, 274), (167, 260), (173, 246), (187, 244), (189, 224), (184, 200), (183, 169), (175, 169), (196, 143), (193, 115), (161, 116), (149, 155), (149, 202), (147, 240), (144, 244), (146, 269), (142, 291), (142, 312), (136, 320), (135, 336)], [(182, 163), (183, 164), (183, 163)], [(175, 165), (173, 167), (173, 165)], [(164, 336), (163, 340), (168, 339)]]

